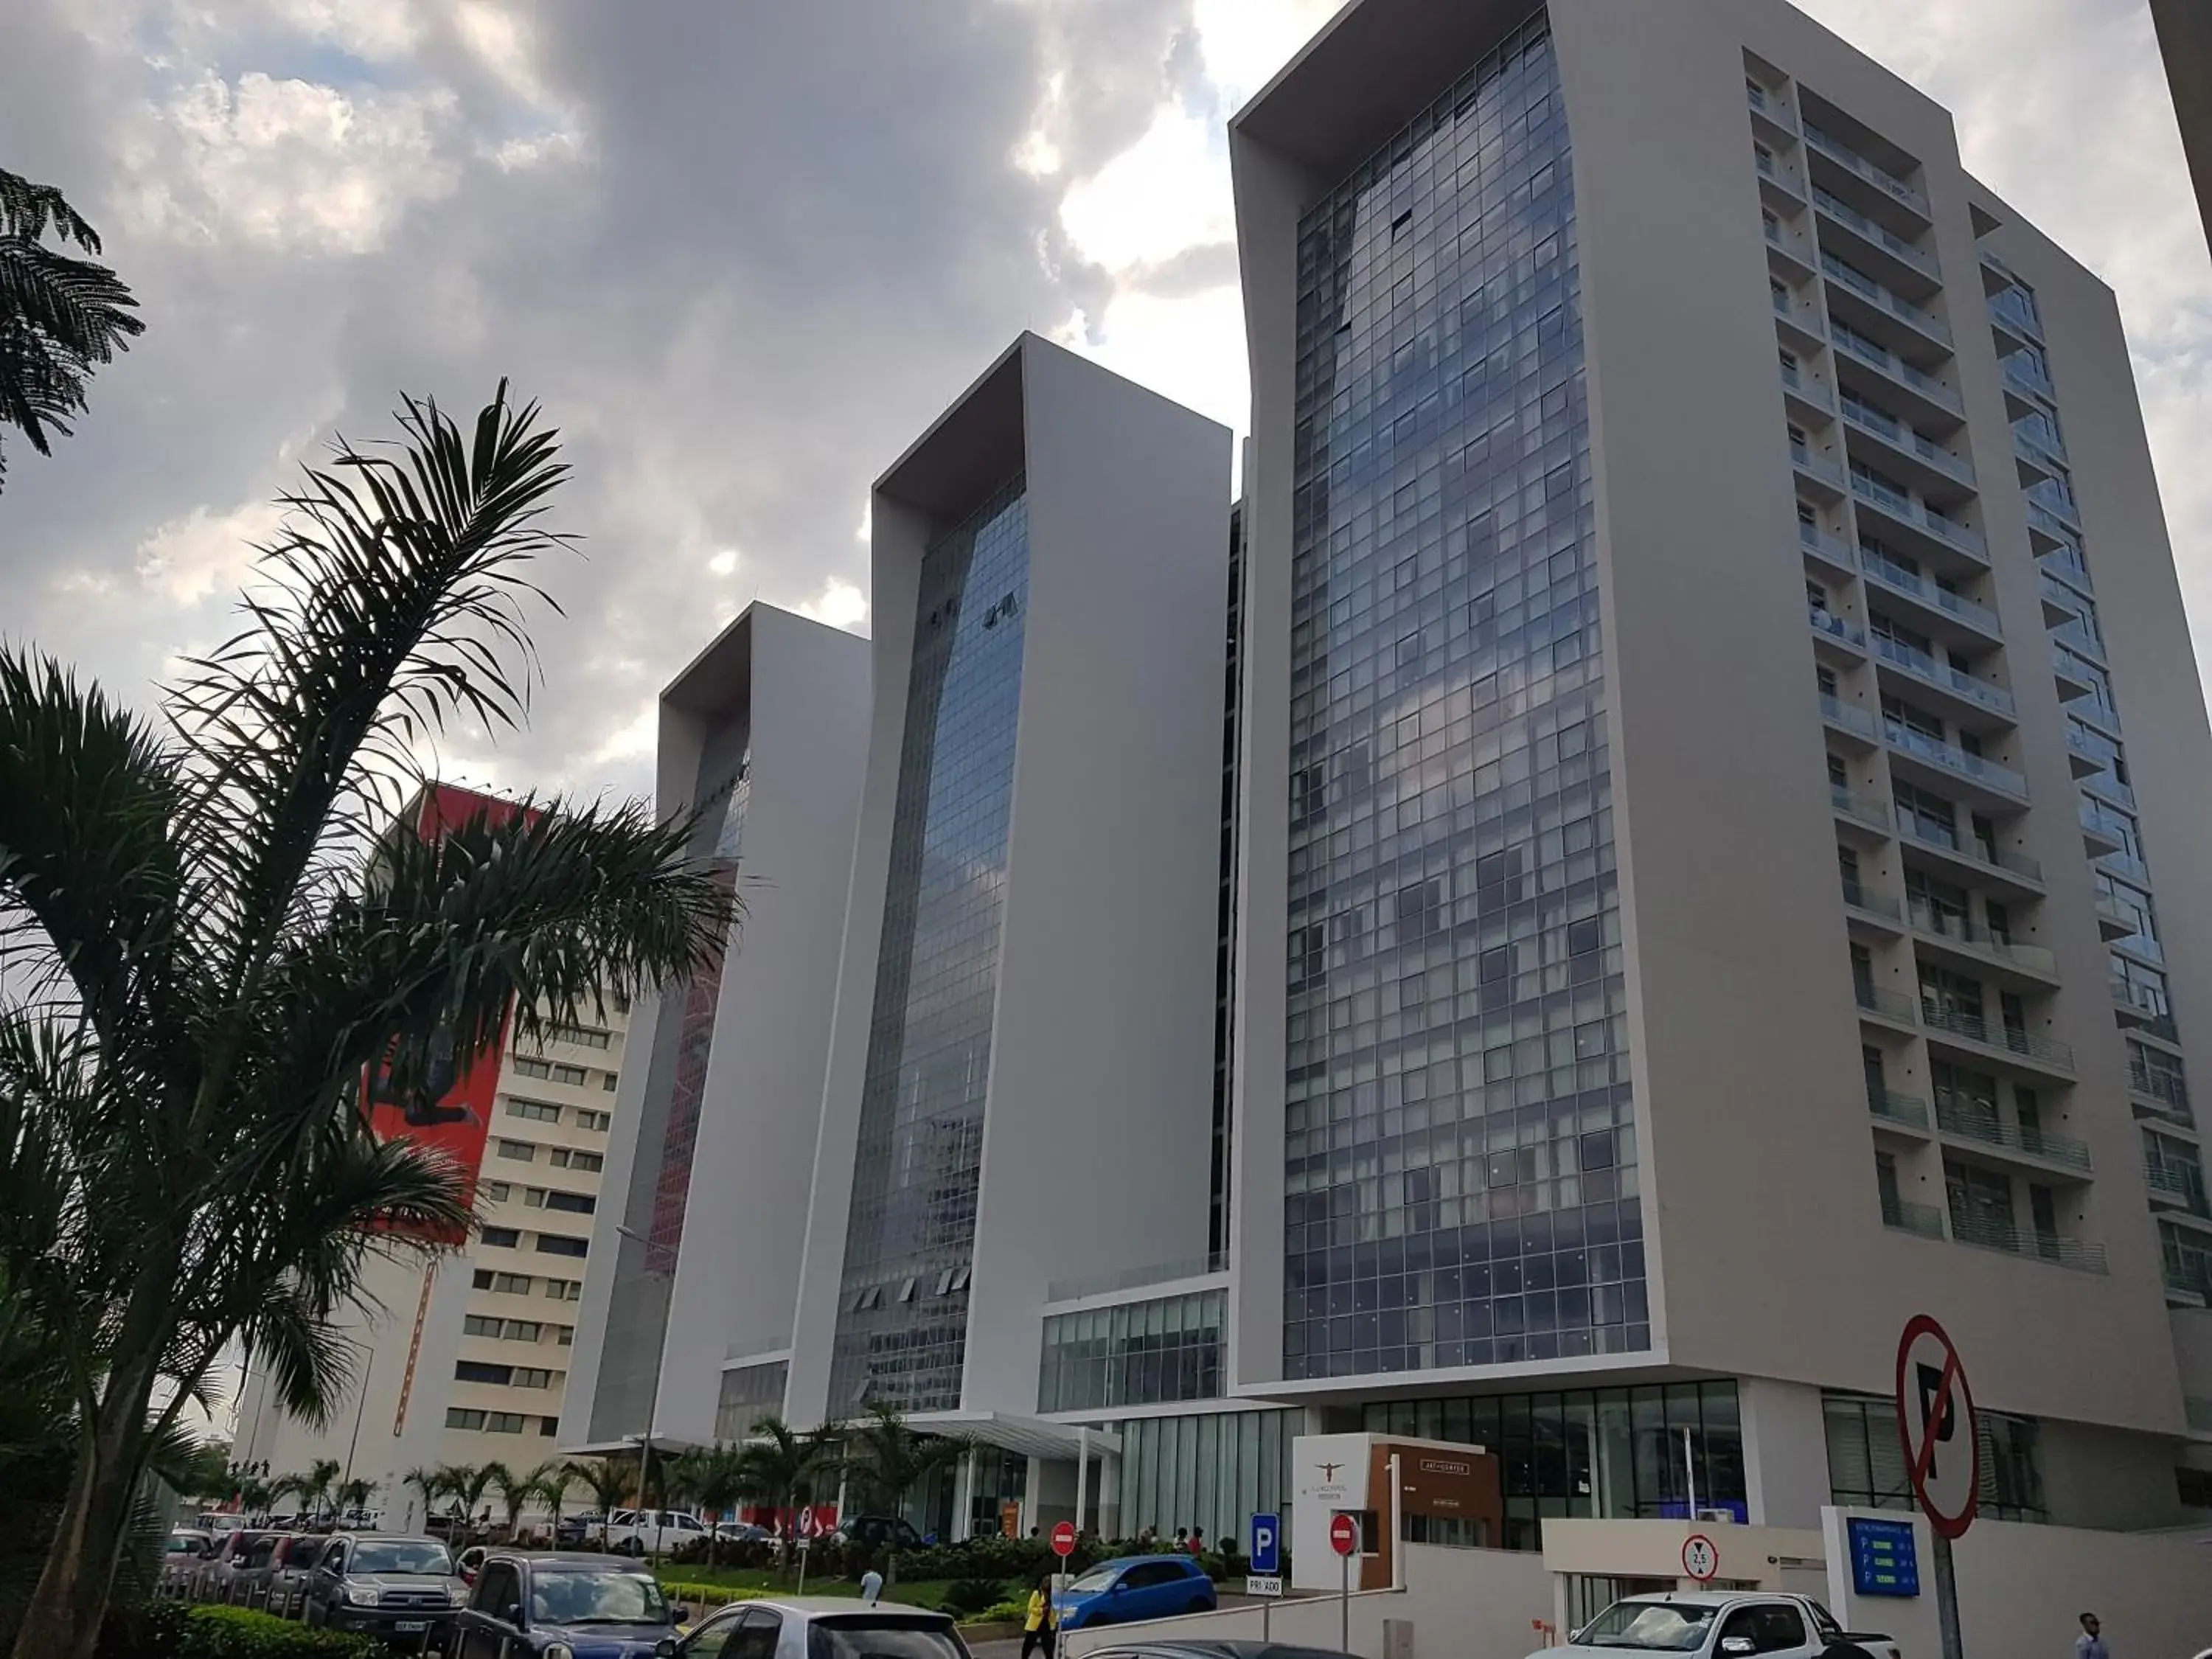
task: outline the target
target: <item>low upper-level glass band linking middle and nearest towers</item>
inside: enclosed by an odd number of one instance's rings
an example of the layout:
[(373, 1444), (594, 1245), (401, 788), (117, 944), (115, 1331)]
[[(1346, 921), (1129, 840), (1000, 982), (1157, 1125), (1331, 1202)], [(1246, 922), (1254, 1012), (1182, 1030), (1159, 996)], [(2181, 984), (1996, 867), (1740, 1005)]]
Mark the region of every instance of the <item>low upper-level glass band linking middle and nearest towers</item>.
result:
[(1228, 1292), (1053, 1314), (1044, 1321), (1037, 1411), (1221, 1398)]

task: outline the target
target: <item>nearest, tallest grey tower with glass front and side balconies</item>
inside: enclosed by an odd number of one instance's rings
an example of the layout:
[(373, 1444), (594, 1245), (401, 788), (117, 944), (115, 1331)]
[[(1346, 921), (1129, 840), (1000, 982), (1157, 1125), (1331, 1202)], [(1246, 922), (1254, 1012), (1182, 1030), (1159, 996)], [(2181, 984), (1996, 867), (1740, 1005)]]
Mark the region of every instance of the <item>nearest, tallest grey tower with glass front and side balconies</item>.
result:
[(2212, 741), (2112, 294), (1781, 0), (1358, 0), (1230, 153), (1225, 1391), (1491, 1444), (1522, 1546), (1809, 1524), (1905, 1502), (1929, 1312), (1984, 1513), (2203, 1504)]

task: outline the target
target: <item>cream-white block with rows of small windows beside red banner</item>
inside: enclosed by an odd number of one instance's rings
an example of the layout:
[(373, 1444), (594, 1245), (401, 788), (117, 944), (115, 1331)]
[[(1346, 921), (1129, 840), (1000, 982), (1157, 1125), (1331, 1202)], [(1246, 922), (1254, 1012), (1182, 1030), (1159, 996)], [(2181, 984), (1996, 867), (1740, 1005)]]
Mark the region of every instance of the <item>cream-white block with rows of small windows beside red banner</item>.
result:
[[(498, 1075), (478, 1175), (478, 1234), (425, 1261), (372, 1263), (352, 1338), (354, 1385), (316, 1429), (285, 1416), (248, 1365), (237, 1460), (270, 1473), (316, 1458), (378, 1484), (385, 1528), (422, 1524), (409, 1469), (555, 1455), (577, 1307), (602, 1248), (599, 1186), (615, 1130), (628, 1004), (608, 998), (513, 1037)], [(489, 1500), (487, 1500), (489, 1502)]]

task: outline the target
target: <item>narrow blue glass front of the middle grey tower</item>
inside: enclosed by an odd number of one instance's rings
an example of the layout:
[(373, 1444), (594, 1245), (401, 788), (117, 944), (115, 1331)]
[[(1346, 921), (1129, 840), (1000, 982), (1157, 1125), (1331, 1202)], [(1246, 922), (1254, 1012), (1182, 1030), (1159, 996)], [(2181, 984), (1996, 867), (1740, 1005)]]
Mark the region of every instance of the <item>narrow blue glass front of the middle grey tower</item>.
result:
[(1015, 478), (922, 555), (832, 1416), (960, 1405), (1026, 608)]

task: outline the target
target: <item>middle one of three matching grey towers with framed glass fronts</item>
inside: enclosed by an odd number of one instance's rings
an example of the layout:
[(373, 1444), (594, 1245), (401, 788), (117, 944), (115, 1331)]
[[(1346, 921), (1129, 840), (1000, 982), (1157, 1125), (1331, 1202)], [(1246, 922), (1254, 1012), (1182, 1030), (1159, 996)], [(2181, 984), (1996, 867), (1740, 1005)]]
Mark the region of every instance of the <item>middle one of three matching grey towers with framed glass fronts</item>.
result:
[(1230, 434), (1024, 334), (876, 482), (876, 695), (787, 1376), (1031, 1493), (1055, 1285), (1208, 1265)]

